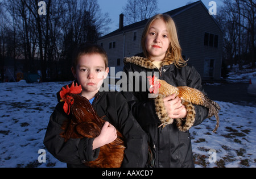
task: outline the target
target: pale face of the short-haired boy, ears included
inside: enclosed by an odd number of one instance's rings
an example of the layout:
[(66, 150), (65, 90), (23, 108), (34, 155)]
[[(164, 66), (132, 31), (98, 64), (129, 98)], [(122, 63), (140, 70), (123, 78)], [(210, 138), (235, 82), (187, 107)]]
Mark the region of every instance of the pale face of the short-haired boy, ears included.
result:
[(109, 68), (106, 68), (104, 59), (99, 54), (82, 55), (76, 70), (72, 67), (72, 72), (83, 92), (96, 94), (108, 76)]

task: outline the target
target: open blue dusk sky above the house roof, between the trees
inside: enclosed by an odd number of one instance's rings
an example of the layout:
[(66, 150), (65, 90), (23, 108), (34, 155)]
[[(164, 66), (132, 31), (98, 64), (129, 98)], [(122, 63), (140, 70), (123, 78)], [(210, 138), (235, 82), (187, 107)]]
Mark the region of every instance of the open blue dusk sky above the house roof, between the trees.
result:
[[(188, 2), (196, 2), (197, 0), (158, 0), (158, 13), (166, 13), (168, 11), (177, 9), (179, 7), (187, 5)], [(207, 7), (210, 8), (209, 2), (213, 0), (203, 0), (202, 2)], [(222, 6), (222, 0), (214, 0), (217, 5), (217, 13), (218, 7)], [(98, 0), (98, 3), (101, 8), (101, 12), (103, 14), (109, 13), (109, 18), (112, 19), (112, 24), (109, 25), (110, 30), (112, 32), (117, 30), (119, 27), (119, 14), (122, 13), (123, 7), (125, 7), (127, 0)]]

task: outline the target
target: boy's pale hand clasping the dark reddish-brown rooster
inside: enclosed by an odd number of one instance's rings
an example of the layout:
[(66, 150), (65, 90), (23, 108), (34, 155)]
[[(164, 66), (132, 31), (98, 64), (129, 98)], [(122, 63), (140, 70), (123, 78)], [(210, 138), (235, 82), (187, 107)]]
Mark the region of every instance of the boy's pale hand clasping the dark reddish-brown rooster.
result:
[(105, 122), (101, 129), (101, 134), (93, 141), (93, 150), (105, 144), (112, 143), (115, 139), (117, 139), (117, 130), (112, 124)]

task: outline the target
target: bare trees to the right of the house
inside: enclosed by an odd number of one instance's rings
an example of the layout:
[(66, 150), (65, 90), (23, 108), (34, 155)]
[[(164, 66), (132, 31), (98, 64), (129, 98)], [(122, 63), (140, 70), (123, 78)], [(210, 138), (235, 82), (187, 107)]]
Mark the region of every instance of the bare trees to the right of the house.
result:
[(255, 8), (255, 0), (224, 0), (217, 15), (224, 31), (224, 55), (230, 65), (255, 65)]

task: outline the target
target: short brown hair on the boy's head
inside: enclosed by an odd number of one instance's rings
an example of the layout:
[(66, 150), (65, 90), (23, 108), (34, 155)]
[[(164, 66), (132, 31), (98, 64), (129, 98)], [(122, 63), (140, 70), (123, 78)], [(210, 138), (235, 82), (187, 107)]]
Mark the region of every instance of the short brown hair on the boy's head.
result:
[(93, 54), (99, 54), (102, 56), (102, 59), (105, 62), (105, 68), (108, 67), (108, 55), (106, 51), (99, 45), (93, 45), (93, 44), (83, 44), (80, 47), (78, 47), (73, 54), (73, 68), (76, 70), (78, 61), (81, 56), (83, 55), (93, 55)]

